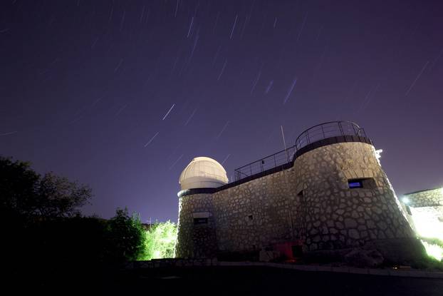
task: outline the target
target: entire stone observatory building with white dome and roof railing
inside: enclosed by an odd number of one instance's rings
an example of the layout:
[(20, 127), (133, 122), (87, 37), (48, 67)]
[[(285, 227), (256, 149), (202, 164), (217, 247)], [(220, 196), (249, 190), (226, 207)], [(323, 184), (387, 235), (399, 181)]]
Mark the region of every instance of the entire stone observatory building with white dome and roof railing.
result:
[[(177, 257), (278, 250), (379, 250), (415, 257), (422, 245), (363, 128), (348, 121), (313, 126), (295, 146), (235, 170), (194, 158), (179, 178)], [(417, 251), (418, 250), (418, 251)]]

